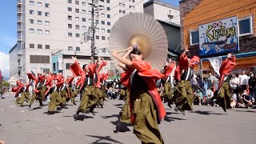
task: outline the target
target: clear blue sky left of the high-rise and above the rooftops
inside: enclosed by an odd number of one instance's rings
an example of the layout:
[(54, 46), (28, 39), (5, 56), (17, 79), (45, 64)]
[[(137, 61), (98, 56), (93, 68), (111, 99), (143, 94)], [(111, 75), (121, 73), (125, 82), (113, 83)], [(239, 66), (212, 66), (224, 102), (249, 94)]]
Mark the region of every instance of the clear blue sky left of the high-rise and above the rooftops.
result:
[[(162, 0), (174, 6), (178, 6), (179, 0)], [(0, 5), (0, 51), (8, 54), (12, 46), (16, 42), (16, 2), (17, 0), (2, 0)]]

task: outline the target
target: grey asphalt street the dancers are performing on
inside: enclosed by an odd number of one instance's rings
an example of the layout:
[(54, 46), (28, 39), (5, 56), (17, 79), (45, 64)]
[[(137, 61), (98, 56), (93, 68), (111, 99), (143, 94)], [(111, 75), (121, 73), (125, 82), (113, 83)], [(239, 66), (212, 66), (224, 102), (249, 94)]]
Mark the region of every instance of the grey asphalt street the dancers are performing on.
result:
[[(86, 118), (82, 116), (78, 121), (73, 118), (78, 106), (70, 105), (58, 114), (47, 115), (47, 106), (37, 109), (38, 102), (31, 109), (27, 105), (15, 106), (14, 102), (12, 96), (0, 99), (0, 139), (6, 144), (140, 143), (132, 133), (132, 126), (122, 128), (123, 132), (118, 134), (113, 132), (123, 104), (120, 100), (109, 100), (104, 109), (95, 110), (95, 116), (86, 114)], [(168, 106), (166, 111), (159, 127), (167, 144), (256, 141), (255, 109), (233, 109), (225, 114), (220, 107), (194, 106), (194, 112), (186, 112), (186, 116)]]

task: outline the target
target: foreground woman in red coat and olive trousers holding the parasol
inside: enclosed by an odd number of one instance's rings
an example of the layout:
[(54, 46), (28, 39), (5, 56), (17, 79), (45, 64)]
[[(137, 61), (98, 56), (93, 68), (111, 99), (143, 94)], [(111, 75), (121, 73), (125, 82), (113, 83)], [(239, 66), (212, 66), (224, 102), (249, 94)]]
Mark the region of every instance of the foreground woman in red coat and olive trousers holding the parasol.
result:
[[(166, 115), (160, 95), (155, 86), (155, 79), (164, 75), (157, 70), (151, 70), (150, 63), (143, 61), (143, 54), (134, 45), (128, 48), (121, 57), (117, 51), (112, 52), (117, 58), (125, 73), (122, 73), (121, 82), (130, 90), (131, 122), (134, 125), (134, 134), (142, 143), (164, 143), (158, 122)], [(129, 55), (130, 59), (126, 59)]]

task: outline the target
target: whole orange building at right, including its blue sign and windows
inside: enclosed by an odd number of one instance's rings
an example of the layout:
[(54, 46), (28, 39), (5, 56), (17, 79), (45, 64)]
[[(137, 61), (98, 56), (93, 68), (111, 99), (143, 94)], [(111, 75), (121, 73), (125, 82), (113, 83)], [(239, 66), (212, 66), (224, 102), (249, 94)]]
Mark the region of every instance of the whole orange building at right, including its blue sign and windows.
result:
[[(224, 59), (231, 52), (236, 55), (238, 64), (234, 71), (255, 70), (255, 1), (182, 0), (179, 8), (182, 47), (188, 46), (192, 54), (203, 60), (216, 57)], [(206, 33), (203, 32), (204, 26), (208, 26)], [(206, 42), (201, 42), (202, 39)], [(208, 53), (204, 55), (202, 50)], [(204, 70), (213, 71), (209, 61), (203, 61), (202, 64)]]

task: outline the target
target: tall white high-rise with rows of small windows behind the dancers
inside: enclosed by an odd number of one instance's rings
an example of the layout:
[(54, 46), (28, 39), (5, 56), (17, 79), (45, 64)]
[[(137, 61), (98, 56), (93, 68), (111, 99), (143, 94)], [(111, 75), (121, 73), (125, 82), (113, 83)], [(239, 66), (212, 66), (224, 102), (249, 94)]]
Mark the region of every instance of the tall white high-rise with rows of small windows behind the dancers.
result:
[[(71, 56), (77, 55), (81, 65), (88, 63), (90, 41), (84, 42), (84, 37), (92, 22), (91, 3), (92, 0), (18, 0), (17, 44), (9, 53), (10, 77), (25, 81), (26, 72), (31, 70), (49, 73), (54, 67), (52, 54), (59, 50), (66, 75), (71, 74), (67, 68), (72, 63)], [(98, 0), (97, 6), (102, 8), (94, 13), (98, 15), (95, 34), (98, 56), (110, 60), (111, 27), (125, 14), (143, 12), (143, 3), (144, 0)], [(113, 66), (114, 63), (108, 62), (106, 70)]]

